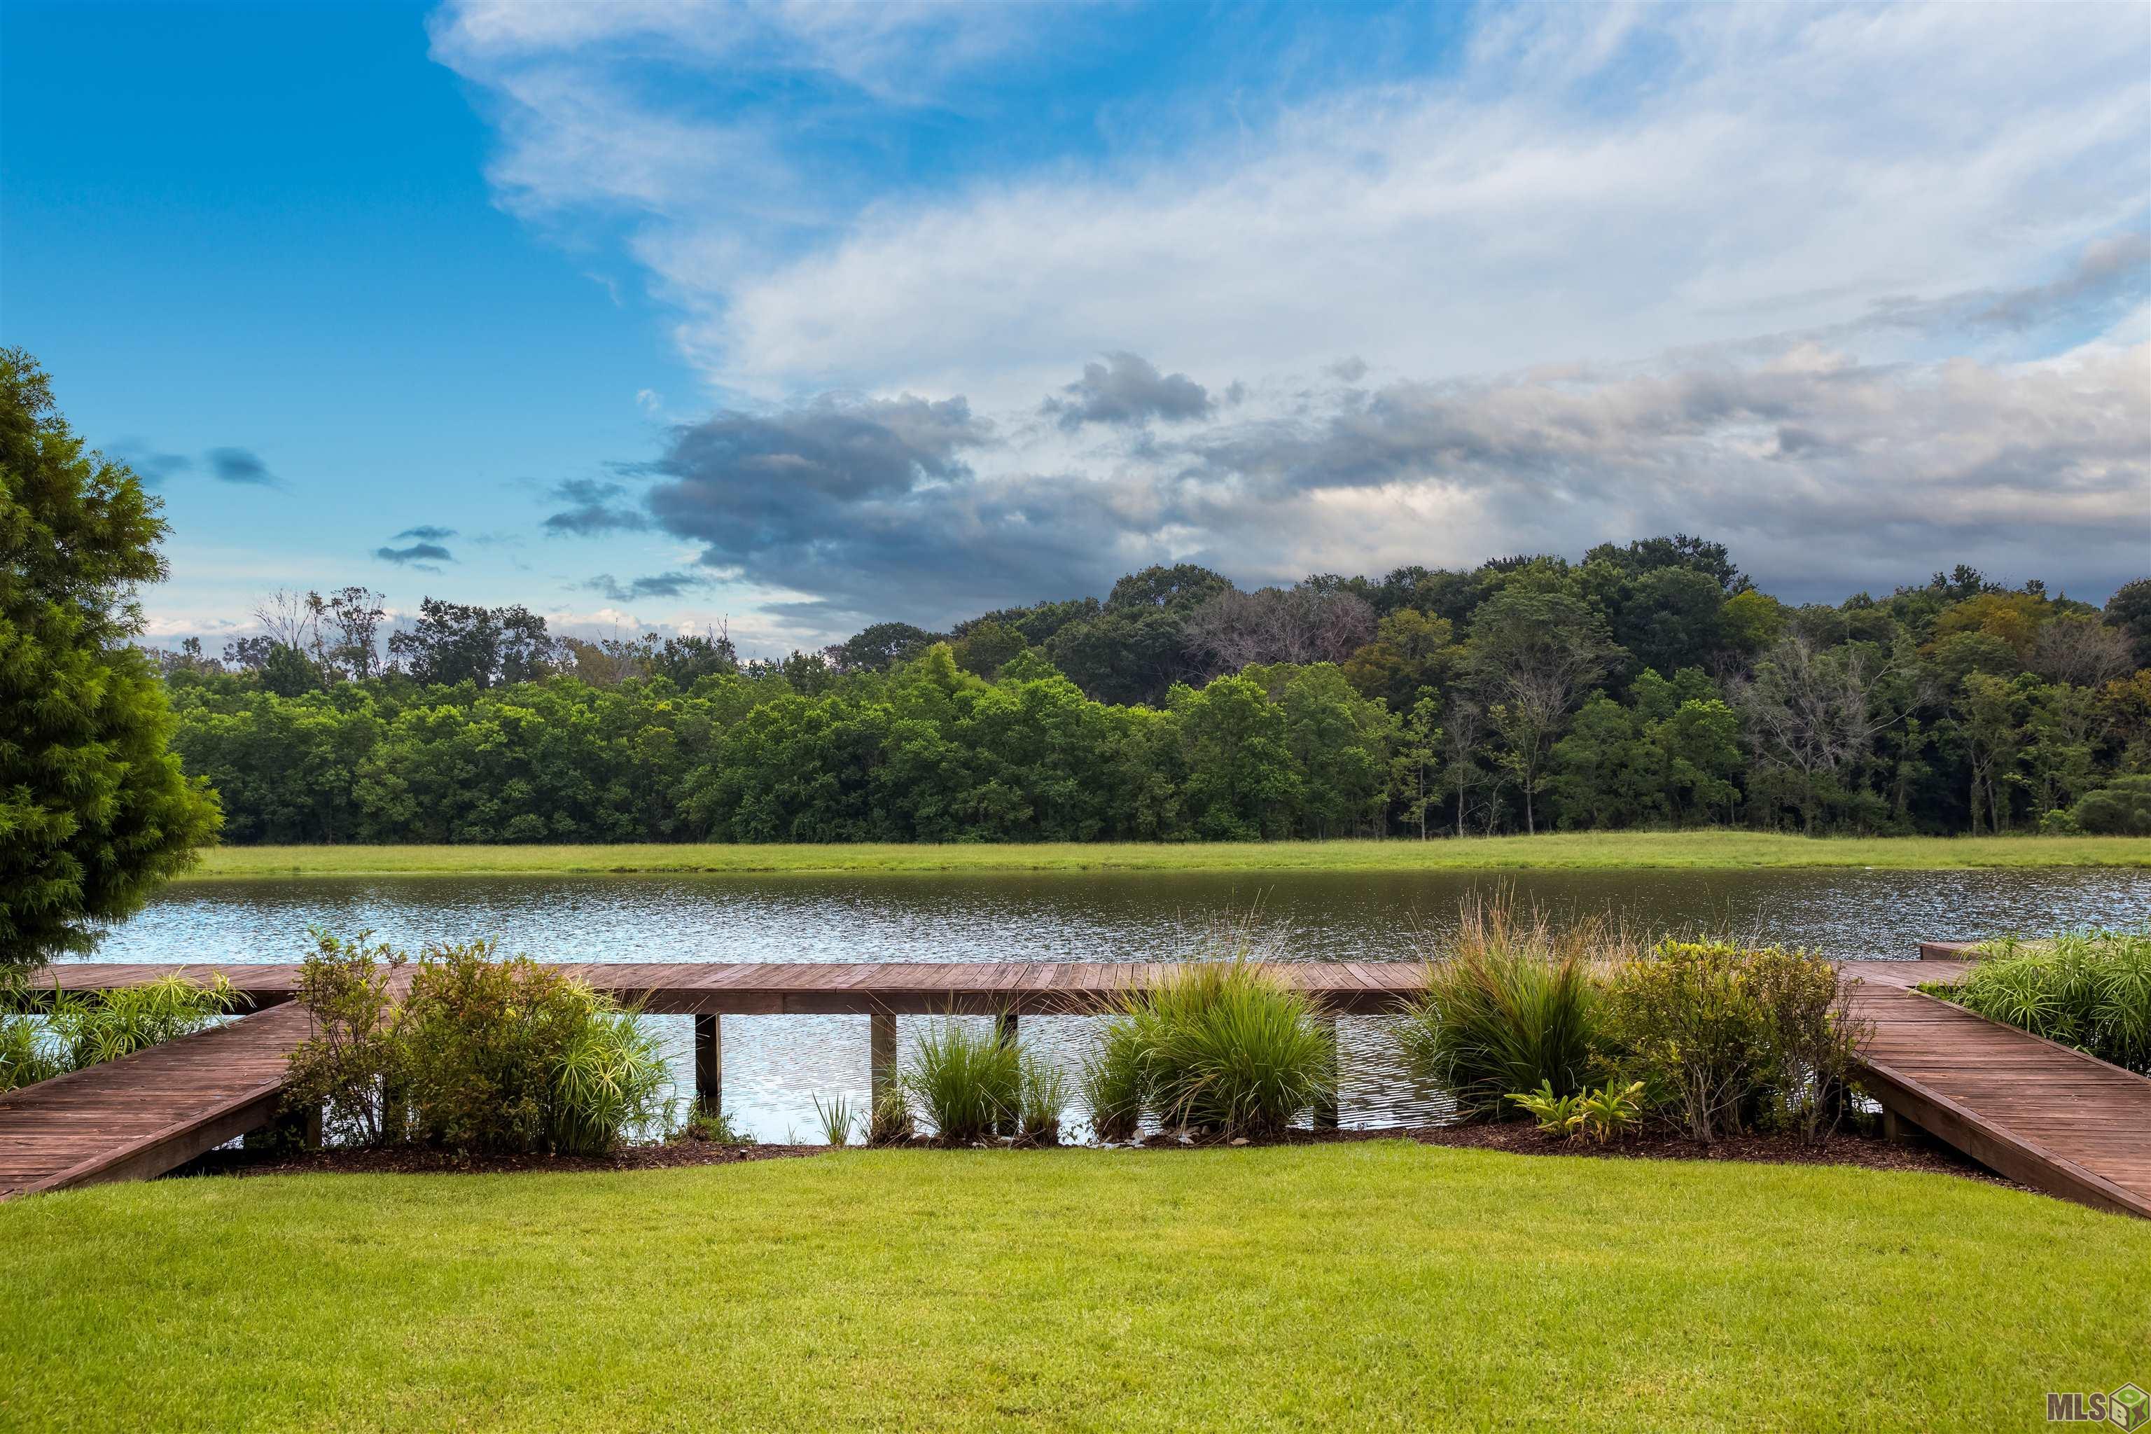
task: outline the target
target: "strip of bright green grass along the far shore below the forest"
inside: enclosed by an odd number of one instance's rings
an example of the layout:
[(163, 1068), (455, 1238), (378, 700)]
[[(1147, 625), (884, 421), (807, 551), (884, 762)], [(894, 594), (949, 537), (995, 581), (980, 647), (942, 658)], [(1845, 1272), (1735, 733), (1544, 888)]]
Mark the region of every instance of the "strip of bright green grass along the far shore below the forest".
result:
[(2151, 866), (2129, 836), (1779, 836), (1770, 832), (1590, 832), (1450, 841), (1213, 845), (589, 845), (589, 847), (217, 847), (189, 877), (424, 873), (1024, 873), (1024, 871), (1751, 871), (1772, 866)]

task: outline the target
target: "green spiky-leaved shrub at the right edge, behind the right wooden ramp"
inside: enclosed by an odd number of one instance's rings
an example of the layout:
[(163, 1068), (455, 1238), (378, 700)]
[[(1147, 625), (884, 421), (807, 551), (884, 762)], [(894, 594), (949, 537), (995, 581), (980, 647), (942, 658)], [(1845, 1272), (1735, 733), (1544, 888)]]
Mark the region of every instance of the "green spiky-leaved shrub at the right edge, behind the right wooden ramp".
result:
[(2000, 942), (1951, 1000), (2151, 1075), (2151, 935), (2080, 931), (2033, 950)]

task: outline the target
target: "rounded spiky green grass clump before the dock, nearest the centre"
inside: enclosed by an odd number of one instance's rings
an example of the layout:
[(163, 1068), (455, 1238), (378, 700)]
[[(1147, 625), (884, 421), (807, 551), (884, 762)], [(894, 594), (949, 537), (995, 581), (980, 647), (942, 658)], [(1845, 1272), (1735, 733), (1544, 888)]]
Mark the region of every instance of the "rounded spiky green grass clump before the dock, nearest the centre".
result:
[(1103, 1053), (1134, 1053), (1134, 1079), (1112, 1071), (1123, 1081), (1116, 1099), (1138, 1088), (1168, 1129), (1276, 1135), (1336, 1099), (1336, 1030), (1323, 1017), (1312, 998), (1243, 957), (1198, 961), (1121, 998)]

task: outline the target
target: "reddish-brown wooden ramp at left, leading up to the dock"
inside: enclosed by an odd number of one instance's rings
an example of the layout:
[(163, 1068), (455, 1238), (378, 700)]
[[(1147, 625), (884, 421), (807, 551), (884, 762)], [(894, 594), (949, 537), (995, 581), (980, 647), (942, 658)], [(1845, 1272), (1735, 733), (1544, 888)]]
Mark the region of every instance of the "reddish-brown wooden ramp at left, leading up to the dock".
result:
[(0, 1094), (0, 1200), (161, 1176), (269, 1124), (305, 1030), (262, 1010)]

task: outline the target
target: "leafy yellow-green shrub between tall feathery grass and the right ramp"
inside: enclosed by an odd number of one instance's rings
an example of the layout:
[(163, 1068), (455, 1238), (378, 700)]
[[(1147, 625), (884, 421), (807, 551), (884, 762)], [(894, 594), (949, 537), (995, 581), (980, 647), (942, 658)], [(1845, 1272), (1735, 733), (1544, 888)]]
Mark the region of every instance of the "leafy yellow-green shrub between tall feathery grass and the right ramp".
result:
[(1863, 1041), (1826, 959), (1704, 942), (1661, 942), (1615, 970), (1600, 1032), (1600, 1060), (1695, 1139), (1820, 1135)]

